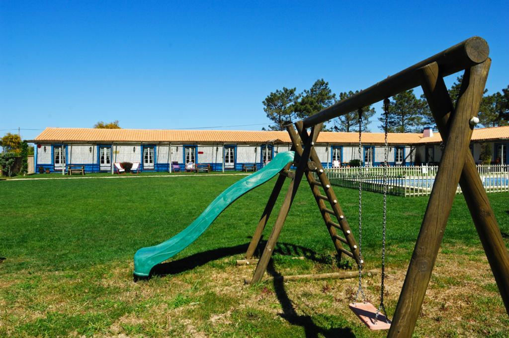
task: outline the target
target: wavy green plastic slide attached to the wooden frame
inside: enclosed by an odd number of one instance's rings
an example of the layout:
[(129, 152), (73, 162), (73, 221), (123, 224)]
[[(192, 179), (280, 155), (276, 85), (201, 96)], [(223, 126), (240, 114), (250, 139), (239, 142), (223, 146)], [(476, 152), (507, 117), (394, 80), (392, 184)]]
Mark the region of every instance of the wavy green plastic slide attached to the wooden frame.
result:
[(293, 161), (293, 158), (293, 151), (279, 153), (265, 167), (242, 178), (227, 190), (223, 191), (194, 222), (180, 233), (154, 247), (139, 249), (134, 255), (134, 274), (142, 277), (149, 276), (150, 270), (152, 270), (156, 264), (184, 250), (189, 244), (194, 242), (196, 238), (200, 237), (219, 214), (237, 198), (277, 175), (282, 168)]

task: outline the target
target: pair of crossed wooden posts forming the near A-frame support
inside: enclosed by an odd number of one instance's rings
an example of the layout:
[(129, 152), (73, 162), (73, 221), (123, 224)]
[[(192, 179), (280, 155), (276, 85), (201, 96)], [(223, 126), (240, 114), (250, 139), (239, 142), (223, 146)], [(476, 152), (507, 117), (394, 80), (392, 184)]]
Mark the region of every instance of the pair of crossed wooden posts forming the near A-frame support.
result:
[(479, 112), (490, 64), (488, 58), (465, 71), (456, 108), (438, 65), (432, 63), (420, 70), (422, 89), (445, 141), (445, 149), (388, 337), (412, 336), (458, 183), (509, 313), (509, 255), (469, 151), (474, 127), (470, 121)]

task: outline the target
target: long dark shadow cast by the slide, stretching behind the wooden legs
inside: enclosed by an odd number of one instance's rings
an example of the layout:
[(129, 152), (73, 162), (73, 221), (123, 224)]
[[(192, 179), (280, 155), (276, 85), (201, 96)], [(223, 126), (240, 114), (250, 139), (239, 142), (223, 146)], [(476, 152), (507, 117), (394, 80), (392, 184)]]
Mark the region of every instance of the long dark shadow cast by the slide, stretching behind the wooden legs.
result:
[[(266, 241), (261, 241), (258, 245), (255, 256), (260, 256)], [(165, 262), (155, 265), (150, 271), (148, 278), (134, 276), (134, 281), (147, 280), (153, 276), (165, 276), (168, 274), (177, 274), (184, 271), (192, 270), (197, 266), (202, 266), (208, 262), (215, 261), (220, 258), (243, 254), (247, 251), (249, 243), (235, 245), (235, 247), (219, 248), (196, 253), (188, 257), (184, 257), (175, 261)], [(303, 256), (306, 259), (316, 263), (327, 263), (327, 257), (317, 254), (317, 252), (301, 247), (300, 245), (290, 243), (277, 243), (274, 253), (284, 256)]]

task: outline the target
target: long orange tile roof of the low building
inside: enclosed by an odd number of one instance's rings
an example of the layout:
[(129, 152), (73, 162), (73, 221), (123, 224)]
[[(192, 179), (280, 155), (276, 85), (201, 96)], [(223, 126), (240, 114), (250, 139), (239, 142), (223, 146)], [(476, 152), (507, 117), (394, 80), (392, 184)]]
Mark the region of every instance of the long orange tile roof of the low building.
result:
[[(321, 132), (317, 143), (357, 144), (358, 137), (357, 133)], [(439, 133), (426, 138), (420, 133), (389, 133), (387, 139), (390, 144), (441, 142)], [(509, 139), (509, 126), (474, 130), (472, 140), (491, 139)], [(286, 131), (46, 128), (31, 142), (290, 143), (290, 137)], [(384, 134), (363, 133), (362, 143), (383, 144)]]

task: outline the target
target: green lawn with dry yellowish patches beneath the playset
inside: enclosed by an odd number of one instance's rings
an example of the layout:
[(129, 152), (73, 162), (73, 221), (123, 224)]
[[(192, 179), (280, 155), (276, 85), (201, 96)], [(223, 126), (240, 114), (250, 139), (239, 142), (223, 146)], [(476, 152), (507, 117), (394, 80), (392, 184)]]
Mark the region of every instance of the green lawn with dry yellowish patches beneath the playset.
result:
[[(0, 182), (0, 256), (7, 257), (0, 264), (0, 336), (384, 336), (366, 330), (348, 310), (356, 280), (242, 283), (254, 267), (237, 267), (235, 260), (247, 248), (273, 181), (241, 197), (164, 264), (171, 274), (132, 282), (137, 249), (177, 234), (241, 177)], [(357, 192), (336, 192), (357, 236)], [(509, 247), (509, 194), (489, 197)], [(427, 200), (388, 197), (389, 317)], [(366, 192), (363, 201), (366, 267), (379, 268), (381, 195)], [(302, 185), (268, 272), (339, 270), (322, 222)], [(364, 283), (376, 303), (379, 276)], [(459, 195), (415, 336), (506, 337), (507, 327), (509, 319)]]

